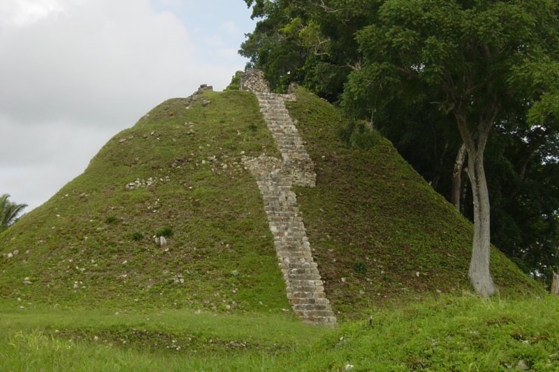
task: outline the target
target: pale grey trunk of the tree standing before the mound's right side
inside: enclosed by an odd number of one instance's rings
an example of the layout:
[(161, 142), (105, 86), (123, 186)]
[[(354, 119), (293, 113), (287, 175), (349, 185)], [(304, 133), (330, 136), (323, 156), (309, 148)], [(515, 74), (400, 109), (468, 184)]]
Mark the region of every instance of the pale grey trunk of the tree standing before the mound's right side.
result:
[(477, 294), (484, 299), (495, 294), (495, 284), (489, 272), (491, 252), (489, 192), (484, 169), (483, 152), (468, 151), (468, 176), (474, 199), (474, 241), (468, 278)]

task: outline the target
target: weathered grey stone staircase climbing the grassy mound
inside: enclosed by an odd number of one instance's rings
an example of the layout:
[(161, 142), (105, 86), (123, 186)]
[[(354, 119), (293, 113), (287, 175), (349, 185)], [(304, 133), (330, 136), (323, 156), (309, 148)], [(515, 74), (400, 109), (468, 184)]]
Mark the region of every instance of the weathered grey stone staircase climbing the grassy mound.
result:
[[(254, 78), (254, 75), (251, 77)], [(283, 96), (269, 91), (261, 92), (262, 87), (267, 87), (266, 83), (258, 81), (258, 78), (253, 80), (259, 87), (259, 92), (255, 94), (261, 112), (282, 153), (282, 159), (261, 155), (257, 158), (243, 157), (242, 162), (256, 178), (263, 196), (279, 267), (293, 311), (304, 322), (335, 326), (336, 318), (326, 299), (324, 283), (317, 263), (312, 259), (305, 224), (299, 215), (297, 196), (291, 191), (291, 185), (314, 187), (316, 173), (312, 159), (285, 108)]]

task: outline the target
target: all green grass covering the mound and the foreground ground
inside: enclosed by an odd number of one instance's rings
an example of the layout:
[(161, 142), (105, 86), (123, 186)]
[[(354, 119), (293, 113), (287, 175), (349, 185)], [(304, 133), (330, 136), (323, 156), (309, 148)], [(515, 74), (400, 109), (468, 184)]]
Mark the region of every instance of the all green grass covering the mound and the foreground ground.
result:
[(558, 370), (559, 299), (498, 250), (500, 296), (464, 296), (471, 224), (389, 141), (349, 147), (332, 106), (297, 96), (317, 187), (295, 191), (339, 328), (288, 310), (240, 161), (279, 157), (256, 98), (204, 92), (161, 103), (0, 234), (0, 371)]

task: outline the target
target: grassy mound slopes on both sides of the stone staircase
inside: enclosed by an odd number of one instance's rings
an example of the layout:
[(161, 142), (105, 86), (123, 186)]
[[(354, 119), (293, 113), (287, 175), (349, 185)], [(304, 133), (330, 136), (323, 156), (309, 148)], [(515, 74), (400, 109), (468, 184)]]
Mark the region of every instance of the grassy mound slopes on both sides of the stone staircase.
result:
[[(298, 90), (290, 114), (317, 187), (294, 187), (336, 312), (469, 288), (471, 225), (372, 134), (349, 148), (328, 103)], [(185, 108), (188, 107), (188, 108)], [(289, 308), (243, 155), (279, 156), (255, 96), (171, 99), (112, 138), (87, 170), (0, 235), (0, 296), (115, 308)], [(167, 234), (159, 247), (153, 236)], [(541, 289), (497, 250), (503, 294)]]

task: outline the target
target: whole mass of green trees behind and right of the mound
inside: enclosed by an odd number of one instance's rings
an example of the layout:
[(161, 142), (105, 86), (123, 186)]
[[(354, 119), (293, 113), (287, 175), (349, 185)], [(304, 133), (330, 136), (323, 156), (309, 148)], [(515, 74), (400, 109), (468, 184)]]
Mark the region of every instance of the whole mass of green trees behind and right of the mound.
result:
[(493, 241), (532, 273), (557, 264), (556, 1), (245, 2), (260, 21), (240, 52), (276, 89), (296, 81), (369, 120), (434, 187), (450, 180), (465, 145), (463, 194), (474, 203), (463, 212), (474, 218), (482, 266), (490, 193)]

